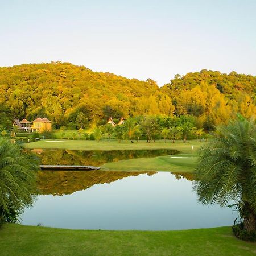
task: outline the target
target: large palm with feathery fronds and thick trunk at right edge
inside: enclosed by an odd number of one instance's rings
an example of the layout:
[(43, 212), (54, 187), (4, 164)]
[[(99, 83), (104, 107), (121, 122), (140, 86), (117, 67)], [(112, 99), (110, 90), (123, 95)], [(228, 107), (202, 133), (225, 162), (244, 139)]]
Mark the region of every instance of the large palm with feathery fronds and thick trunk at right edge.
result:
[(201, 147), (194, 189), (203, 204), (237, 203), (247, 231), (256, 229), (256, 122), (219, 127)]

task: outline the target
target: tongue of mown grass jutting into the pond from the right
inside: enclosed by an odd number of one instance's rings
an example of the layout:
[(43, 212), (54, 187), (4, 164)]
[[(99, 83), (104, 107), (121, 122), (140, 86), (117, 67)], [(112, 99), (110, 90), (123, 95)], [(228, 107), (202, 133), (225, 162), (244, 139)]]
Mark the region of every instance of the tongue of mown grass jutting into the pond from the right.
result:
[(105, 171), (169, 171), (193, 172), (197, 158), (191, 154), (167, 155), (155, 158), (137, 158), (105, 163)]

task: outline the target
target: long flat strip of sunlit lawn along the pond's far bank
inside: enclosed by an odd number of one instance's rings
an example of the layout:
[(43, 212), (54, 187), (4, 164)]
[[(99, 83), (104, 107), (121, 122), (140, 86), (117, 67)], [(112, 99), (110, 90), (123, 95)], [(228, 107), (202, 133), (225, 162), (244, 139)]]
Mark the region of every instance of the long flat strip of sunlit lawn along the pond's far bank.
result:
[[(54, 148), (54, 149), (68, 149), (68, 150), (152, 150), (152, 149), (174, 149), (179, 150), (185, 154), (192, 154), (195, 152), (203, 142), (177, 141), (175, 143), (164, 143), (164, 141), (156, 141), (155, 143), (147, 143), (146, 141), (139, 141), (131, 143), (130, 141), (85, 141), (85, 140), (45, 140), (31, 143), (24, 143), (26, 148)], [(192, 145), (194, 146), (192, 152)]]

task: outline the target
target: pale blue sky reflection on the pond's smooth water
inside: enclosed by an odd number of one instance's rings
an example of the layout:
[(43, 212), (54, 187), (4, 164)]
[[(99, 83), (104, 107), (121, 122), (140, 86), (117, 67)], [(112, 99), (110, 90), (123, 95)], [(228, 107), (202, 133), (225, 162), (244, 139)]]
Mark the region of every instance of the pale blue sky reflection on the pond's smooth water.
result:
[(40, 195), (24, 225), (72, 229), (172, 230), (233, 224), (232, 209), (203, 206), (192, 181), (158, 172), (97, 184), (72, 195)]

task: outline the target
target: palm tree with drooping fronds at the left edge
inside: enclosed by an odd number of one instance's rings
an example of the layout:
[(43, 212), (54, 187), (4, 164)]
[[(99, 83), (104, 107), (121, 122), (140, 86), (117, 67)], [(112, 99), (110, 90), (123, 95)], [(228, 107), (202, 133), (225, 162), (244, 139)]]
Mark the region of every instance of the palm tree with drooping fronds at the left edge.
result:
[(0, 218), (16, 222), (35, 200), (38, 158), (17, 143), (0, 138)]

